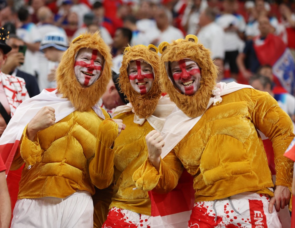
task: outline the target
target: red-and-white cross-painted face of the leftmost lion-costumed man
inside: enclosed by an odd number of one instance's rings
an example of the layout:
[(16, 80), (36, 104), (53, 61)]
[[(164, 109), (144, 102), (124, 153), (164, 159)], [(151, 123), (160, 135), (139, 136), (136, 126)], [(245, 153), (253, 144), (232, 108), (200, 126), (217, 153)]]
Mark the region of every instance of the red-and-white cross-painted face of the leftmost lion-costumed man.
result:
[(88, 87), (100, 76), (103, 57), (95, 49), (81, 48), (75, 59), (74, 72), (81, 85)]

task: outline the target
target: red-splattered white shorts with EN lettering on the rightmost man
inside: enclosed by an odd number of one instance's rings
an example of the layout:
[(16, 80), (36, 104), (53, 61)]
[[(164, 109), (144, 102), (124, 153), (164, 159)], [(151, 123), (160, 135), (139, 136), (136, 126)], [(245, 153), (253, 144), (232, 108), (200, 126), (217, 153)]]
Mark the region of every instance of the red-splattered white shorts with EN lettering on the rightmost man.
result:
[(215, 201), (197, 202), (189, 228), (281, 228), (275, 207), (269, 214), (269, 196), (244, 192)]

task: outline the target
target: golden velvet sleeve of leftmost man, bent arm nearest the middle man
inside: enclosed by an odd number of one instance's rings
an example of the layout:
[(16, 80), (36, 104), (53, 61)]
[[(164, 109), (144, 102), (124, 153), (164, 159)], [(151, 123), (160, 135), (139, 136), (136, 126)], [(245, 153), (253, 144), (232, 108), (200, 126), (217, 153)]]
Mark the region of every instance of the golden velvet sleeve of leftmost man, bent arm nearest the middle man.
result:
[(114, 149), (111, 149), (118, 135), (118, 125), (110, 118), (98, 127), (95, 155), (89, 163), (92, 183), (99, 189), (108, 187), (114, 176)]

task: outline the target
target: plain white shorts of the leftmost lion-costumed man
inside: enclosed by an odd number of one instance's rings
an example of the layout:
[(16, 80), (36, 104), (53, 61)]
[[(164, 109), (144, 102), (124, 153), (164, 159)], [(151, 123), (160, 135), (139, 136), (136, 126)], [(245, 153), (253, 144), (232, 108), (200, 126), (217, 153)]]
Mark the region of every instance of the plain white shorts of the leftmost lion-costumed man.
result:
[(88, 191), (77, 191), (65, 198), (18, 199), (11, 228), (90, 228), (93, 202)]

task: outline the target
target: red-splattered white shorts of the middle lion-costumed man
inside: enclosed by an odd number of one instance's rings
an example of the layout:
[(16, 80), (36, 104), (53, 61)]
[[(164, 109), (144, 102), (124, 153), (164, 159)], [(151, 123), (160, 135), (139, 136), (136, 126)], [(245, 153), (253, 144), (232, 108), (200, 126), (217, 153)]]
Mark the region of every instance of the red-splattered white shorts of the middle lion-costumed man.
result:
[(113, 207), (102, 228), (151, 228), (151, 216)]

